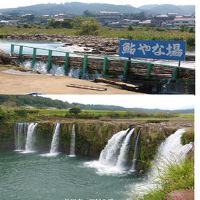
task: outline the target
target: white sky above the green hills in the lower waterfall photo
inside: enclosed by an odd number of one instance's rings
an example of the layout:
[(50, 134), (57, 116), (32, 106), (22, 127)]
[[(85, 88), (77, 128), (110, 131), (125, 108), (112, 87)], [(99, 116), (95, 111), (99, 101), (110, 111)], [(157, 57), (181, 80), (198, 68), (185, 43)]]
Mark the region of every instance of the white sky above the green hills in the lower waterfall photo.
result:
[(69, 103), (116, 105), (126, 108), (188, 109), (194, 108), (193, 95), (42, 95)]

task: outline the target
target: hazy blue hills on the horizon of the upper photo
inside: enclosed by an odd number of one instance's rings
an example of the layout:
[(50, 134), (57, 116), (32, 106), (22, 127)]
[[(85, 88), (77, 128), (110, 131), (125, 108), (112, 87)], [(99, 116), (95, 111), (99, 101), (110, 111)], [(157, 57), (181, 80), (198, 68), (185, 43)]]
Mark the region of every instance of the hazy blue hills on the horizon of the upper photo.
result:
[(139, 8), (135, 8), (131, 5), (114, 5), (114, 4), (103, 4), (103, 3), (80, 3), (80, 2), (70, 2), (64, 4), (36, 4), (32, 6), (19, 7), (19, 8), (8, 8), (0, 9), (1, 13), (6, 14), (27, 14), (32, 13), (35, 15), (55, 15), (58, 13), (64, 13), (72, 16), (83, 15), (84, 11), (90, 11), (92, 13), (99, 13), (100, 11), (112, 11), (121, 13), (139, 13), (144, 11), (146, 14), (160, 14), (160, 13), (178, 13), (180, 15), (184, 14), (194, 14), (195, 6), (177, 6), (171, 4), (162, 5), (145, 5)]

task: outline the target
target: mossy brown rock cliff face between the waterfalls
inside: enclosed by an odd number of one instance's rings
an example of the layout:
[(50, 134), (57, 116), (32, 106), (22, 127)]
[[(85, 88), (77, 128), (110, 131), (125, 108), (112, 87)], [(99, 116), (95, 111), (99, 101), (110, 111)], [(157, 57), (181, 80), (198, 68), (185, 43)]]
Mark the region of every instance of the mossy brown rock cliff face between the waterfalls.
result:
[[(179, 128), (188, 128), (193, 131), (193, 121), (137, 121), (137, 120), (67, 120), (61, 122), (59, 151), (65, 154), (70, 152), (70, 138), (72, 126), (75, 125), (76, 148), (78, 156), (97, 159), (108, 140), (117, 132), (126, 130), (130, 125), (135, 128), (134, 133), (141, 131), (139, 140), (139, 154), (137, 169), (145, 170), (154, 158), (158, 146), (170, 134)], [(0, 151), (14, 150), (14, 124), (0, 129)], [(48, 152), (54, 132), (54, 122), (42, 122), (37, 126), (36, 148), (39, 152)], [(136, 134), (132, 135), (129, 160), (133, 159)], [(25, 137), (25, 135), (24, 135)], [(190, 142), (190, 141), (187, 141)]]

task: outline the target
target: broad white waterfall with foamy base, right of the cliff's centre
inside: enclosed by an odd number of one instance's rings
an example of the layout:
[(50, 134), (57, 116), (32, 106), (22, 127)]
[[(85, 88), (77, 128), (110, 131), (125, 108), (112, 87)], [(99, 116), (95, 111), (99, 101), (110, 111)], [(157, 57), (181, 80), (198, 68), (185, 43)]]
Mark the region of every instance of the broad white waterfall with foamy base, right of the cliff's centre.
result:
[(122, 174), (126, 171), (130, 139), (134, 129), (120, 131), (108, 140), (98, 161), (86, 162), (85, 166), (97, 169), (100, 175)]

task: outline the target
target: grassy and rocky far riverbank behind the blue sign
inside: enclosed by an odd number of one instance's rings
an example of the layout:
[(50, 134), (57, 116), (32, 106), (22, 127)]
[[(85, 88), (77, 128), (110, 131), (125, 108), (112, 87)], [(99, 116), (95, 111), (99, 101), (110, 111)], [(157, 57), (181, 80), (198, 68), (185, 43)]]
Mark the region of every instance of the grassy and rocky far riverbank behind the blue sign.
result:
[[(177, 30), (158, 31), (153, 28), (127, 29), (101, 28), (98, 36), (78, 35), (77, 29), (46, 29), (2, 27), (0, 38), (9, 40), (53, 41), (64, 46), (77, 45), (92, 48), (91, 53), (118, 54), (119, 39), (133, 40), (186, 40), (187, 50), (195, 49), (195, 33)], [(58, 34), (59, 33), (59, 34)]]

